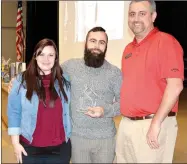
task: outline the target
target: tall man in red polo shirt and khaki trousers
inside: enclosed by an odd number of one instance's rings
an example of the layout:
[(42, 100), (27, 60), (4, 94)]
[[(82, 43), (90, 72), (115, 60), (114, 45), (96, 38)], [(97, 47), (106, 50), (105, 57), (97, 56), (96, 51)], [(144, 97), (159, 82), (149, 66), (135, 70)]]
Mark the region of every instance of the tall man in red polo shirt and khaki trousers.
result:
[(172, 162), (183, 50), (173, 36), (154, 27), (156, 16), (154, 1), (131, 1), (128, 24), (135, 38), (122, 57), (117, 163)]

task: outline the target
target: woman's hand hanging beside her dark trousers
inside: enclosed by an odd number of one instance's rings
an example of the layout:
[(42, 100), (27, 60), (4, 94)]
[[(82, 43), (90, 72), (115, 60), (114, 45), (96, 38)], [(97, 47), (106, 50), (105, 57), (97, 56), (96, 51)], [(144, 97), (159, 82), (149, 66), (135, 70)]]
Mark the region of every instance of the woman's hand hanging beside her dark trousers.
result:
[(27, 152), (23, 148), (23, 146), (20, 143), (13, 144), (14, 147), (14, 154), (16, 156), (18, 163), (23, 163), (22, 161), (22, 153), (27, 156)]

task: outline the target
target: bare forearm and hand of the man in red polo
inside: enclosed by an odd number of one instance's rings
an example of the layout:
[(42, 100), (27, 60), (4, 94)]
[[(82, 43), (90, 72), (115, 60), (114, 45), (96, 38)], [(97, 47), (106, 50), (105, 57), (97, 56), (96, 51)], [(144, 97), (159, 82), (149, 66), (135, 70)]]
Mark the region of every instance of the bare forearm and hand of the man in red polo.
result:
[(152, 149), (159, 148), (158, 136), (161, 124), (179, 99), (179, 95), (183, 89), (183, 81), (180, 78), (167, 78), (166, 81), (167, 86), (162, 97), (162, 102), (152, 119), (152, 123), (147, 133), (147, 143)]

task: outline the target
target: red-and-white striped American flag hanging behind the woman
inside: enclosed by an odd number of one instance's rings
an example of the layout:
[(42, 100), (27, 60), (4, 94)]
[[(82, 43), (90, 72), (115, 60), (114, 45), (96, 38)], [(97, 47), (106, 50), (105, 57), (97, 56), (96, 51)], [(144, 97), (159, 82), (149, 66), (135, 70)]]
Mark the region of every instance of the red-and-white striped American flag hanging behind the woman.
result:
[(25, 38), (23, 31), (22, 1), (18, 1), (17, 21), (16, 21), (16, 54), (17, 61), (23, 61)]

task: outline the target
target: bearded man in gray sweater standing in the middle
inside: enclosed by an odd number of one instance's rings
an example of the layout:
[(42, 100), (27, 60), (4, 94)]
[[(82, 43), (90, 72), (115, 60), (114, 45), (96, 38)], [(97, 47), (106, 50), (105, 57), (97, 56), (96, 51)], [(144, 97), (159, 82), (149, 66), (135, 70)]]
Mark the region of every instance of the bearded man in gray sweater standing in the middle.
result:
[(87, 36), (84, 58), (62, 64), (71, 82), (72, 163), (112, 163), (120, 115), (119, 68), (105, 60), (108, 36), (102, 27)]

